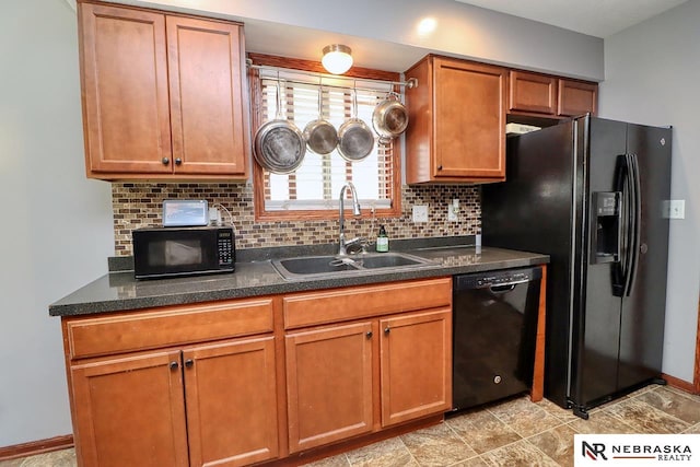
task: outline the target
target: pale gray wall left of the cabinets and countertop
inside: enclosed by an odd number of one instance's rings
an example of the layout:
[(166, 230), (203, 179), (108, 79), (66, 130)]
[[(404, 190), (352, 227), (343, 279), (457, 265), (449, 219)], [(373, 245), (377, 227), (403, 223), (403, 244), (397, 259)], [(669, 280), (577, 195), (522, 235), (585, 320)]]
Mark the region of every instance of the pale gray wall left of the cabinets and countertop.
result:
[(75, 13), (0, 15), (0, 446), (71, 432), (60, 320), (48, 304), (106, 272), (109, 185), (85, 178)]

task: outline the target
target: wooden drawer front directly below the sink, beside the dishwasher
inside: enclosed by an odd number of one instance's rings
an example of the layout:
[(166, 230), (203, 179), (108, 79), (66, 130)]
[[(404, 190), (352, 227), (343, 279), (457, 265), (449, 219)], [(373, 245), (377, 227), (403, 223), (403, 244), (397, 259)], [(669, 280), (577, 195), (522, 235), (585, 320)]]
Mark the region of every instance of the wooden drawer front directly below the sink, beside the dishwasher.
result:
[(283, 299), (284, 328), (452, 306), (452, 278), (334, 289)]

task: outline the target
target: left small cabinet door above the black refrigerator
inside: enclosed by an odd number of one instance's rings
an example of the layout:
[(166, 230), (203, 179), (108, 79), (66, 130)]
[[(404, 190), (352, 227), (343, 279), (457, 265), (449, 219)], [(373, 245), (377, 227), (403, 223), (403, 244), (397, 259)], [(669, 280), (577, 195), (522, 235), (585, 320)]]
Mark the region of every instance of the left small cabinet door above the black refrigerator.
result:
[(509, 79), (511, 110), (555, 115), (557, 79), (544, 74), (511, 71)]

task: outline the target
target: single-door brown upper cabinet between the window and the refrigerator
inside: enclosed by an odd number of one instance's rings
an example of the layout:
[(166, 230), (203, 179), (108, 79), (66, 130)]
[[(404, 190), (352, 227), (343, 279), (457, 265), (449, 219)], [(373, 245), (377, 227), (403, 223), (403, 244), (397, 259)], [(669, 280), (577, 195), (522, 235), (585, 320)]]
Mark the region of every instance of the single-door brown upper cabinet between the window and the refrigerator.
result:
[(410, 78), (407, 183), (503, 180), (508, 70), (429, 55)]

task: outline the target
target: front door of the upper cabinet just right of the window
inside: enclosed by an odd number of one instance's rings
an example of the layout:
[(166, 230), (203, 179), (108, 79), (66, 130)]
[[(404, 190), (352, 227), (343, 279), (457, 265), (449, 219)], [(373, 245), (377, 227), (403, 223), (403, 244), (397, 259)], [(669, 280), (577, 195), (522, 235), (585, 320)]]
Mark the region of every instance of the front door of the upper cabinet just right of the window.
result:
[(434, 176), (502, 179), (506, 70), (436, 58), (433, 73)]

